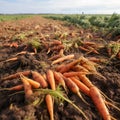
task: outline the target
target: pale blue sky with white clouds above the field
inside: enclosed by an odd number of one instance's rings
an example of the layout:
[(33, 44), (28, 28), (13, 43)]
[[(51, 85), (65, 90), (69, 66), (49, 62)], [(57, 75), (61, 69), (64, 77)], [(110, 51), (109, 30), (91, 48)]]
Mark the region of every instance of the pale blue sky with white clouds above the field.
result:
[(0, 0), (0, 13), (120, 14), (120, 0)]

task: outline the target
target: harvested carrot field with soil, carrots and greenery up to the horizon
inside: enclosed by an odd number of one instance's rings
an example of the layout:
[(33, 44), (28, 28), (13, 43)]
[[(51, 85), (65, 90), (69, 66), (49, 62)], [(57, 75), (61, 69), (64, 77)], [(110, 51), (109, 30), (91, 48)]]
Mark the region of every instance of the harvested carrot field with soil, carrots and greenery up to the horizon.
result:
[(0, 120), (120, 120), (120, 15), (0, 15)]

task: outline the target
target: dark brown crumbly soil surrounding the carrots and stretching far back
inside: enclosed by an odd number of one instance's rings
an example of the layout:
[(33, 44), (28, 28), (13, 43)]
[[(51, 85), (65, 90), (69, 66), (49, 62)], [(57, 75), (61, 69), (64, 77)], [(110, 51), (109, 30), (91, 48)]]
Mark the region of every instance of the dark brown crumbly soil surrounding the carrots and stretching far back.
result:
[[(32, 54), (35, 50), (32, 44), (28, 44), (29, 41), (37, 39), (51, 43), (53, 40), (61, 39), (62, 41), (63, 39), (70, 42), (78, 38), (92, 40), (96, 42), (96, 46), (104, 44), (105, 40), (106, 42), (110, 41), (103, 38), (100, 33), (95, 33), (89, 29), (83, 30), (65, 22), (45, 19), (40, 16), (0, 22), (0, 120), (49, 120), (45, 101), (37, 106), (29, 104), (26, 102), (24, 94), (13, 94), (16, 91), (3, 90), (3, 88), (10, 88), (20, 84), (21, 81), (19, 78), (6, 81), (2, 81), (2, 78), (25, 70), (35, 70), (45, 73), (47, 69), (55, 68), (56, 65), (52, 66), (49, 58), (58, 54), (58, 51), (49, 51), (48, 47), (50, 47), (50, 44), (47, 44), (47, 46), (43, 45), (39, 47), (36, 54)], [(26, 51), (26, 53), (18, 54), (22, 51)], [(86, 54), (84, 51), (73, 47), (64, 51), (65, 55), (72, 53), (75, 54), (76, 58), (82, 54), (85, 57), (97, 57), (109, 60), (105, 48), (101, 48), (99, 54)], [(17, 57), (17, 60), (7, 61), (15, 57)], [(97, 71), (105, 76), (106, 80), (97, 75), (89, 75), (89, 79), (112, 101), (120, 103), (120, 60), (114, 58), (107, 64), (104, 62), (99, 64), (100, 67), (98, 67)], [(68, 93), (68, 97), (84, 111), (89, 120), (102, 120), (90, 97), (84, 93), (81, 94), (89, 105), (85, 104), (72, 92)], [(35, 98), (33, 96), (32, 100), (35, 100)], [(120, 104), (117, 103), (115, 105), (120, 108)], [(107, 107), (110, 115), (120, 120), (120, 111), (109, 105)], [(55, 103), (54, 118), (55, 120), (84, 120), (84, 117), (67, 102), (63, 104)]]

